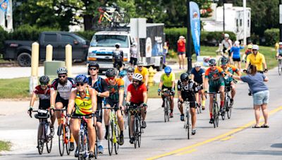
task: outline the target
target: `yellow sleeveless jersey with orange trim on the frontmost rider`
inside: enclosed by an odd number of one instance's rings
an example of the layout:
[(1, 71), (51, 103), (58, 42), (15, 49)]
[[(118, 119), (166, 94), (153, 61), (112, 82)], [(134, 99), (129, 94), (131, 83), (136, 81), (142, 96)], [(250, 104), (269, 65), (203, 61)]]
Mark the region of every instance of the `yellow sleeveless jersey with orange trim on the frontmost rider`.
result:
[(92, 114), (92, 99), (89, 89), (85, 88), (85, 98), (80, 97), (79, 91), (76, 92), (75, 97), (75, 114), (87, 115)]

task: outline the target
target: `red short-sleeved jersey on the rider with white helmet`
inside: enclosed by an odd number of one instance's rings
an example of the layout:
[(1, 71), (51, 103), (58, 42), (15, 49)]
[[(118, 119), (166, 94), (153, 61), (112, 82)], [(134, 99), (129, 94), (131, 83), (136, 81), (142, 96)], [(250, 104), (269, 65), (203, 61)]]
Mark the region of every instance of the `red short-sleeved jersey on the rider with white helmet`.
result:
[(141, 86), (139, 86), (137, 89), (133, 86), (133, 84), (130, 84), (128, 86), (128, 93), (131, 93), (131, 100), (130, 102), (133, 103), (140, 103), (140, 102), (144, 102), (144, 97), (143, 97), (143, 93), (147, 93), (147, 88), (145, 86), (145, 84), (142, 84)]

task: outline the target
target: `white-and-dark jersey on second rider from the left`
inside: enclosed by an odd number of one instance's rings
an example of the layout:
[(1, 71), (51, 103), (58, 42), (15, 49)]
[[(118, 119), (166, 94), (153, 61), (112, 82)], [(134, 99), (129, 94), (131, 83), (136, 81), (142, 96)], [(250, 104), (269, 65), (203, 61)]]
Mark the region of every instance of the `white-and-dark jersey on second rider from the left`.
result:
[(58, 91), (59, 97), (63, 98), (63, 100), (68, 100), (72, 88), (75, 88), (75, 81), (72, 78), (68, 78), (65, 85), (60, 84), (58, 78), (54, 79), (51, 83), (51, 90)]

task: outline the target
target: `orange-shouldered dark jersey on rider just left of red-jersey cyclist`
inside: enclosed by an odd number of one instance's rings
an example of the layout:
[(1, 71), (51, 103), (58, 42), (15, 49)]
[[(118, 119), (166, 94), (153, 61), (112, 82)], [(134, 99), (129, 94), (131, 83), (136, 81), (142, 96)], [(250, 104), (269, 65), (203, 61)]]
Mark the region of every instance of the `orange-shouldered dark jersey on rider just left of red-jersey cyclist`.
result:
[(106, 84), (108, 85), (108, 89), (109, 89), (109, 92), (110, 92), (110, 95), (109, 95), (109, 98), (106, 98), (106, 99), (111, 99), (111, 101), (113, 102), (118, 102), (118, 98), (119, 98), (119, 95), (118, 95), (118, 91), (119, 90), (123, 90), (124, 88), (124, 81), (123, 79), (115, 79), (115, 84), (114, 85), (111, 85), (109, 84), (109, 79), (105, 79), (106, 81)]

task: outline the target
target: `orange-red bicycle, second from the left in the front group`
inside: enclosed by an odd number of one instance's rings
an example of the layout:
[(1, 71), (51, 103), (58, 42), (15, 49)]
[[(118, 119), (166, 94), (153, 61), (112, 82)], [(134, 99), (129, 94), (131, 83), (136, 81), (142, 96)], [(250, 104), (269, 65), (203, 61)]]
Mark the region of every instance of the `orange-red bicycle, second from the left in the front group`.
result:
[(63, 156), (63, 152), (66, 145), (66, 153), (70, 155), (71, 151), (70, 145), (71, 145), (71, 132), (69, 129), (68, 124), (66, 123), (66, 114), (63, 112), (67, 109), (54, 109), (54, 111), (61, 111), (61, 123), (59, 124), (58, 128), (58, 135), (59, 135), (59, 152), (60, 155)]

